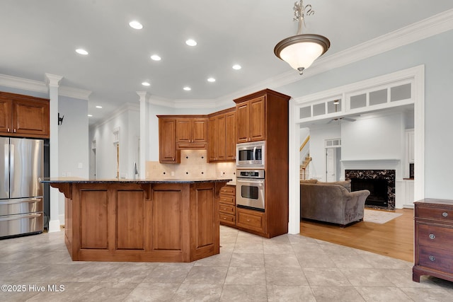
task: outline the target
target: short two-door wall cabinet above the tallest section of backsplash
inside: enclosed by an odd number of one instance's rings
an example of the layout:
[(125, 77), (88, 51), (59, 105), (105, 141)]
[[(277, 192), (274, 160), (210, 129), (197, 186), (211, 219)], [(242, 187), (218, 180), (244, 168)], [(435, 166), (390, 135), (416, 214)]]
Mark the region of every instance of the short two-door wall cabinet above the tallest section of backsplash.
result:
[(206, 149), (207, 117), (177, 118), (176, 144), (178, 149)]

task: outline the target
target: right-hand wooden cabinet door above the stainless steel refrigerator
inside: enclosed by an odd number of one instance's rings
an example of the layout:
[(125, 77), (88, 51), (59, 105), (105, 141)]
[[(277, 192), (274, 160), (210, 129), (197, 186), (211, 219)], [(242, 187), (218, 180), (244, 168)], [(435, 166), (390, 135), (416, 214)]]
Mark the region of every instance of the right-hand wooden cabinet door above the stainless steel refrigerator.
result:
[(49, 102), (13, 100), (13, 133), (33, 137), (50, 137)]

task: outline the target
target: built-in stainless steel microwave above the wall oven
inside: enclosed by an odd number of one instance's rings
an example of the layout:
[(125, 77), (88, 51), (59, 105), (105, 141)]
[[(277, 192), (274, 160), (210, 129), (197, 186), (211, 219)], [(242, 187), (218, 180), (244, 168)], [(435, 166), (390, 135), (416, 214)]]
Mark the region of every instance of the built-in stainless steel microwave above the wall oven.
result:
[(236, 168), (264, 168), (265, 141), (236, 144)]

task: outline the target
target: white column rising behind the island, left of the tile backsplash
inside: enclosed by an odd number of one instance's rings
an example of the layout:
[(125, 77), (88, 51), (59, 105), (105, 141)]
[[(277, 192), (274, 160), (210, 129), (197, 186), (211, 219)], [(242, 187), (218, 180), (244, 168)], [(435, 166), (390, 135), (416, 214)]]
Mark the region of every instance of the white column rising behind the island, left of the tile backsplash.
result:
[(147, 154), (149, 154), (149, 108), (148, 101), (151, 96), (146, 91), (137, 91), (140, 99), (140, 162), (139, 165), (139, 178), (146, 178), (145, 168), (147, 161)]

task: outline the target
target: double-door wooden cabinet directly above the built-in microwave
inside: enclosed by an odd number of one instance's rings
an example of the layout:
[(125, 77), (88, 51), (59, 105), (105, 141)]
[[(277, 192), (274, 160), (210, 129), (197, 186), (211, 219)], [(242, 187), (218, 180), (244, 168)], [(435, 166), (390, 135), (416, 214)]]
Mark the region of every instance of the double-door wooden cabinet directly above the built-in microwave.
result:
[(265, 98), (261, 95), (236, 105), (238, 143), (265, 140)]

